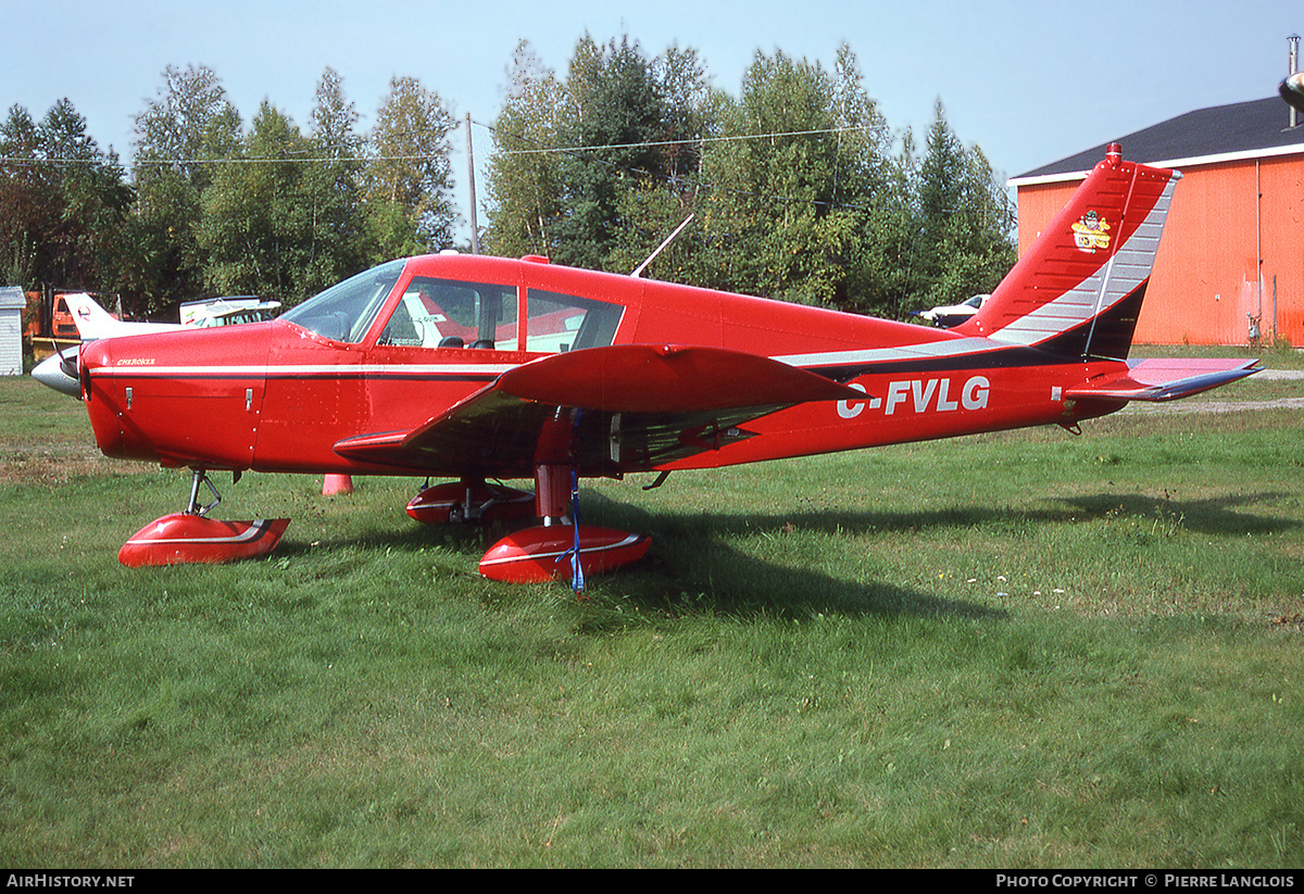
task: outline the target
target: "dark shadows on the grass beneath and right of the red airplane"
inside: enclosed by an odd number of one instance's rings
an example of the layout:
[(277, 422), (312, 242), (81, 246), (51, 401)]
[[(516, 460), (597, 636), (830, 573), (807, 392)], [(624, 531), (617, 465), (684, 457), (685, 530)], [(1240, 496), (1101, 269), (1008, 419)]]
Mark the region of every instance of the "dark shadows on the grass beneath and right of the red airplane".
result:
[[(816, 613), (882, 616), (939, 616), (1003, 619), (1009, 614), (979, 602), (939, 596), (887, 580), (850, 580), (812, 567), (792, 567), (810, 551), (810, 542), (797, 533), (863, 536), (875, 532), (928, 532), (953, 529), (957, 534), (987, 525), (1020, 529), (1041, 524), (1104, 523), (1114, 519), (1140, 520), (1142, 528), (1180, 528), (1201, 534), (1269, 534), (1300, 525), (1288, 519), (1241, 511), (1271, 502), (1282, 494), (1254, 493), (1183, 500), (1172, 495), (1148, 497), (1102, 491), (1072, 498), (1048, 498), (1042, 508), (1000, 508), (960, 504), (925, 511), (858, 511), (794, 508), (789, 512), (700, 513), (664, 512), (589, 493), (584, 521), (636, 525), (652, 533), (655, 546), (640, 563), (618, 575), (605, 576), (604, 584), (635, 602), (652, 605), (708, 601), (720, 610), (738, 614), (777, 614), (810, 616)], [(1155, 525), (1150, 525), (1151, 520)], [(1149, 525), (1149, 526), (1148, 526)], [(370, 543), (377, 547), (417, 550), (432, 541), (473, 558), (484, 542), (497, 536), (494, 525), (482, 528), (382, 526), (374, 534), (351, 537), (344, 543)], [(1144, 533), (1144, 532), (1142, 532)], [(743, 551), (735, 537), (763, 537), (773, 543), (773, 559)], [(1155, 540), (1162, 540), (1155, 537)], [(872, 547), (866, 547), (872, 549)], [(309, 547), (283, 543), (280, 554), (306, 553)]]

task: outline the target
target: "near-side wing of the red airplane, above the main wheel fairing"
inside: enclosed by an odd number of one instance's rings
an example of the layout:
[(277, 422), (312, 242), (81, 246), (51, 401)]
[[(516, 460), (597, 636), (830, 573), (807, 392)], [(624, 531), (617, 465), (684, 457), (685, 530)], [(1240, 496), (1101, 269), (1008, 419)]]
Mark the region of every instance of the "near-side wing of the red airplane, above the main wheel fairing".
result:
[[(613, 345), (523, 364), (412, 431), (347, 438), (348, 459), (422, 472), (528, 477), (572, 459), (582, 474), (653, 469), (748, 438), (739, 427), (810, 400), (861, 392), (721, 348)], [(556, 459), (550, 460), (556, 461)]]

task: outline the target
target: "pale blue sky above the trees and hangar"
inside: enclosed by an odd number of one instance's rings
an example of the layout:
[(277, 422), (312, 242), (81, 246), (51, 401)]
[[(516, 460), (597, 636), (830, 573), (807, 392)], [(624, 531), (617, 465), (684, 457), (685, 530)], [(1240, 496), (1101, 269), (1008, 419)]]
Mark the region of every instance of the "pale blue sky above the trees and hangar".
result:
[[(629, 35), (649, 56), (694, 47), (734, 95), (758, 51), (832, 68), (845, 42), (892, 128), (922, 138), (940, 98), (960, 139), (1016, 176), (1183, 112), (1274, 95), (1304, 3), (0, 0), (0, 27), (4, 109), (40, 117), (67, 96), (124, 160), (167, 65), (214, 69), (245, 121), (270, 99), (306, 129), (330, 66), (363, 129), (394, 76), (489, 123), (518, 40), (563, 72), (587, 31)], [(472, 134), (482, 156), (489, 134)], [(455, 142), (460, 151), (464, 138)], [(467, 216), (464, 158), (454, 166)]]

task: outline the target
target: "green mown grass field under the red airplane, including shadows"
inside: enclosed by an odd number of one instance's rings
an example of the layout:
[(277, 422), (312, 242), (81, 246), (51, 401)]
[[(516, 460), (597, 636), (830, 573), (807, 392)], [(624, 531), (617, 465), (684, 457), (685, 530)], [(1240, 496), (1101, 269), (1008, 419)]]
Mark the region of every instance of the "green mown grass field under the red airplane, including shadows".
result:
[(0, 381), (0, 865), (1301, 867), (1300, 397), (602, 482), (580, 603), (409, 480), (123, 568), (186, 476)]

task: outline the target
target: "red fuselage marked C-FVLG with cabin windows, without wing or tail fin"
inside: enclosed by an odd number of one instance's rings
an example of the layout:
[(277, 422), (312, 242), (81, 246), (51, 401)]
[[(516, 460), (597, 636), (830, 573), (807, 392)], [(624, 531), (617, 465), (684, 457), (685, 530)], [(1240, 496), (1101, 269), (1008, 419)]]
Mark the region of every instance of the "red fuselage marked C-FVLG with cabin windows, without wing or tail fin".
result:
[[(411, 431), (532, 360), (612, 344), (743, 351), (865, 394), (798, 404), (748, 422), (752, 437), (626, 470), (1073, 425), (1121, 405), (1063, 396), (1119, 361), (537, 259), (426, 255), (355, 280), (269, 323), (85, 345), (82, 387), (100, 450), (209, 470), (412, 474), (334, 447)], [(466, 470), (456, 460), (421, 469)]]

